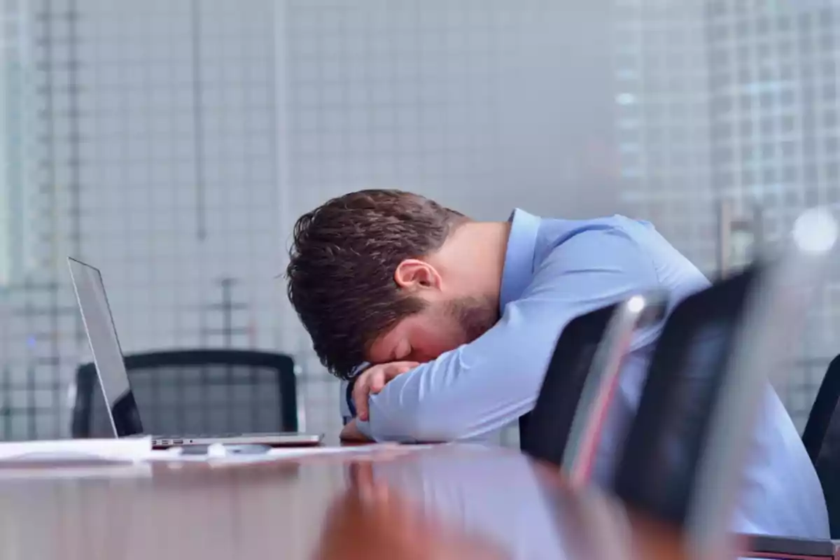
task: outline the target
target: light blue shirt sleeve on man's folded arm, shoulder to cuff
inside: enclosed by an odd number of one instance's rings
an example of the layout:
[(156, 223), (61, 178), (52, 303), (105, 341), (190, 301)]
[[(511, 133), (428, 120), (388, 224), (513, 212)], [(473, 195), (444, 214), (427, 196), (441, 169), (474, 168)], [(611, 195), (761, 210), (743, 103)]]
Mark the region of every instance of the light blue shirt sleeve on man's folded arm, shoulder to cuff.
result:
[(654, 266), (624, 233), (590, 231), (554, 249), (522, 297), (474, 342), (392, 379), (371, 395), (376, 441), (480, 437), (533, 408), (559, 332), (575, 317), (658, 285)]

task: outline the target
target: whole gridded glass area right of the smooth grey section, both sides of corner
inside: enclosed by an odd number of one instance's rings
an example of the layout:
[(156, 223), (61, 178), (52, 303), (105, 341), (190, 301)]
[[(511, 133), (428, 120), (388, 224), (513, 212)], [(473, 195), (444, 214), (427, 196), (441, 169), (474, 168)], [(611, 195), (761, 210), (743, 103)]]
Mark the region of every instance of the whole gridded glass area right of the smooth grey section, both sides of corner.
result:
[[(837, 207), (836, 3), (616, 0), (622, 200), (710, 275)], [(840, 333), (840, 270), (814, 306), (786, 404), (802, 426)]]

